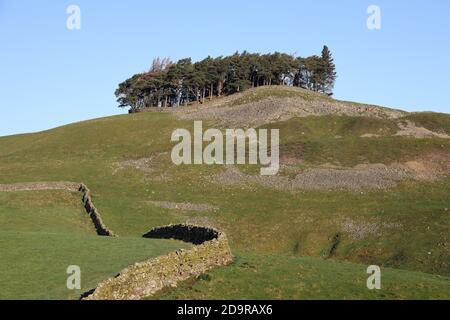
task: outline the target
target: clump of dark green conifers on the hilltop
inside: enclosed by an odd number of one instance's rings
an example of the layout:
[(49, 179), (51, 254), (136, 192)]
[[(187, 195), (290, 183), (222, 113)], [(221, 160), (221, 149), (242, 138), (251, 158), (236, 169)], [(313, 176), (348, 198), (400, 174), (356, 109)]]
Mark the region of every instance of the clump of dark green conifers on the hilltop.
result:
[(120, 83), (115, 95), (119, 107), (137, 111), (203, 103), (213, 96), (267, 85), (296, 86), (332, 95), (335, 81), (335, 65), (327, 46), (321, 56), (307, 58), (244, 51), (226, 57), (208, 56), (199, 62), (156, 58), (150, 70)]

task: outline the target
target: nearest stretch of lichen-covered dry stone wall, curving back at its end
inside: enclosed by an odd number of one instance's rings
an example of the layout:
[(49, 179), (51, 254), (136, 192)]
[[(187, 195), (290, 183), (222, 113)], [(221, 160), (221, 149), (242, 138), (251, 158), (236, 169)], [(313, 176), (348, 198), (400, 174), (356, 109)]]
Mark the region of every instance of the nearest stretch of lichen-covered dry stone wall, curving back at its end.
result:
[(144, 237), (178, 239), (199, 245), (136, 263), (124, 269), (118, 276), (100, 283), (85, 299), (142, 299), (233, 261), (226, 235), (212, 228), (172, 225), (155, 228)]

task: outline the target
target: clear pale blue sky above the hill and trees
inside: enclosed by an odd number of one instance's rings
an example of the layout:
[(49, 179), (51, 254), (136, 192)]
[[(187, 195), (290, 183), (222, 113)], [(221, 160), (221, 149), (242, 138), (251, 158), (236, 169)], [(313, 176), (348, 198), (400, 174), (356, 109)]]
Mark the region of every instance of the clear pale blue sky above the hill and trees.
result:
[[(81, 8), (81, 30), (66, 9)], [(367, 7), (381, 8), (368, 30)], [(114, 90), (155, 56), (282, 51), (327, 44), (335, 96), (450, 113), (450, 1), (0, 0), (0, 135), (124, 112)]]

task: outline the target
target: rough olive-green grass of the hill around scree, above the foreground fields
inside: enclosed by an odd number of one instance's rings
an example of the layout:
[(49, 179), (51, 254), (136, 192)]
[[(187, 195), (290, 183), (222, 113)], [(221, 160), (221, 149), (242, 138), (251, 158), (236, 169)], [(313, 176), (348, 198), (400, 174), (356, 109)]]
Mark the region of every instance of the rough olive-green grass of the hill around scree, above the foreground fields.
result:
[[(305, 165), (390, 163), (450, 150), (445, 139), (359, 137), (395, 131), (396, 124), (388, 120), (320, 117), (272, 126), (281, 127), (282, 153), (300, 149)], [(402, 228), (386, 229), (362, 240), (343, 234), (335, 258), (450, 274), (446, 250), (449, 221), (444, 211), (450, 179), (440, 183), (406, 181), (389, 191), (362, 194), (221, 187), (204, 178), (223, 170), (220, 166), (171, 165), (170, 135), (175, 128), (192, 128), (192, 123), (177, 121), (169, 114), (143, 113), (3, 137), (0, 183), (82, 181), (93, 191), (106, 224), (119, 235), (137, 237), (153, 226), (206, 218), (227, 232), (233, 250), (322, 257), (329, 252), (331, 239), (341, 234), (346, 219), (398, 223)], [(336, 139), (336, 135), (342, 138)], [(152, 160), (154, 172), (133, 168), (115, 172), (116, 164), (123, 160), (167, 152)], [(152, 180), (161, 174), (170, 180)], [(148, 200), (209, 203), (220, 209), (214, 214), (180, 212), (157, 208)]]

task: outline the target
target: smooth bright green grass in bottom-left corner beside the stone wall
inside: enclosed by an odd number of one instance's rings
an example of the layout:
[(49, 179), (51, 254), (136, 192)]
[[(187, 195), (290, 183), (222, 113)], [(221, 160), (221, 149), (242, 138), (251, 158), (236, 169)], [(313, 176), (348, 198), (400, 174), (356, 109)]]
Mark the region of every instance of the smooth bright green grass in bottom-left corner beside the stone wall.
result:
[[(123, 268), (184, 244), (170, 240), (0, 231), (0, 299), (78, 299)], [(68, 290), (69, 265), (81, 268), (82, 290)]]

